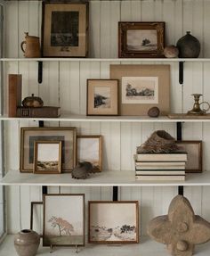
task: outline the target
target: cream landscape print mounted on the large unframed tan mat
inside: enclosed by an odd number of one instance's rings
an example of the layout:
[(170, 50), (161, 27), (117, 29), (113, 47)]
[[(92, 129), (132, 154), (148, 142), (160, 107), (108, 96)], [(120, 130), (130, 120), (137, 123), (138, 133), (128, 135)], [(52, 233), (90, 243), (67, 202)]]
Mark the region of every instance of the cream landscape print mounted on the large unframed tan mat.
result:
[(123, 77), (122, 103), (158, 103), (158, 77)]

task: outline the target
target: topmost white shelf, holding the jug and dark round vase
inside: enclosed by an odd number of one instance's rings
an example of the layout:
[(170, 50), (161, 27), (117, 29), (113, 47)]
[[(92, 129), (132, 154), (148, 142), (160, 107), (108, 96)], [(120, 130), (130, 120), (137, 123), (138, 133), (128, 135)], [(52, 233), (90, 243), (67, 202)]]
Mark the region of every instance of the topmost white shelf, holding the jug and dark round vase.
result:
[(1, 62), (210, 62), (210, 58), (0, 58)]

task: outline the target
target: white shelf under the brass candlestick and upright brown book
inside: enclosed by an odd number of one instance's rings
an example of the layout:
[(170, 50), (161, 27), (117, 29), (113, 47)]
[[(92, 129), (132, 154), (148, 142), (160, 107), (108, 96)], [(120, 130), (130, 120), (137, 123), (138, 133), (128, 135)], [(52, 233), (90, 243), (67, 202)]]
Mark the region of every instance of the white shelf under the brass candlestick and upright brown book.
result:
[(44, 121), (75, 121), (75, 122), (210, 122), (210, 119), (169, 119), (167, 116), (149, 118), (149, 116), (86, 116), (61, 114), (59, 118), (10, 118), (7, 115), (0, 116), (0, 120), (44, 120)]

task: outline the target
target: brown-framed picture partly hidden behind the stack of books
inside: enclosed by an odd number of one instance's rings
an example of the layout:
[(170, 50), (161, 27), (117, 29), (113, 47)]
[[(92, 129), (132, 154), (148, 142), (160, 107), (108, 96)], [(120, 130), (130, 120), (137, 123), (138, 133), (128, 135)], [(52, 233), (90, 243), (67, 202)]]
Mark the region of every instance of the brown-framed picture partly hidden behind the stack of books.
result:
[(188, 161), (186, 162), (186, 172), (202, 172), (203, 152), (201, 140), (181, 140), (176, 141), (180, 147), (180, 151), (188, 153)]

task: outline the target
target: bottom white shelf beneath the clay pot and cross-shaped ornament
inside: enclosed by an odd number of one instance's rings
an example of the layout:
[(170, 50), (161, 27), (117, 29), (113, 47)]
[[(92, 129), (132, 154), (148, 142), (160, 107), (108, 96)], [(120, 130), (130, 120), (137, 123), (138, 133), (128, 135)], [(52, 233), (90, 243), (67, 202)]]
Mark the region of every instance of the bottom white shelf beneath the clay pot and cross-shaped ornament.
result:
[[(14, 245), (13, 245), (13, 235), (7, 235), (4, 243), (0, 246), (0, 255), (1, 256), (16, 256)], [(155, 241), (149, 239), (149, 237), (141, 237), (140, 244), (122, 244), (122, 245), (94, 245), (86, 244), (85, 247), (79, 247), (80, 256), (168, 256), (169, 253), (166, 250), (165, 244), (159, 244)], [(195, 255), (197, 256), (208, 256), (210, 251), (210, 243), (199, 244), (195, 247)], [(74, 247), (55, 247), (53, 252), (50, 253), (49, 247), (43, 247), (42, 241), (39, 245), (37, 255), (40, 256), (67, 256), (67, 255), (76, 255)]]

